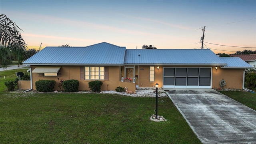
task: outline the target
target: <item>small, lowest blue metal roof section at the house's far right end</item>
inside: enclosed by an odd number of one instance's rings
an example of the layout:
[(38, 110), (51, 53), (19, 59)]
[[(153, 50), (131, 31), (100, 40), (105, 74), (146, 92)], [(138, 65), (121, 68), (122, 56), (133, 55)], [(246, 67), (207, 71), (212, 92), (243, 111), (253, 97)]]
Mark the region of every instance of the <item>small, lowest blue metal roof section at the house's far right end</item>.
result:
[(226, 64), (222, 68), (254, 68), (239, 57), (220, 57)]

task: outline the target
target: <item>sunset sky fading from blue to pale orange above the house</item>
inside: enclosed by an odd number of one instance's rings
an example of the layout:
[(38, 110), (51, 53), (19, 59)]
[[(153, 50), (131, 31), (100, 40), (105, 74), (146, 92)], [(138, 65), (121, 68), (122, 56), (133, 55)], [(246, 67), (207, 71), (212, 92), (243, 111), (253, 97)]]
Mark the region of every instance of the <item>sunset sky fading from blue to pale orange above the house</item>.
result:
[(0, 0), (0, 14), (22, 29), (28, 48), (200, 49), (205, 27), (204, 48), (216, 54), (256, 50), (255, 0)]

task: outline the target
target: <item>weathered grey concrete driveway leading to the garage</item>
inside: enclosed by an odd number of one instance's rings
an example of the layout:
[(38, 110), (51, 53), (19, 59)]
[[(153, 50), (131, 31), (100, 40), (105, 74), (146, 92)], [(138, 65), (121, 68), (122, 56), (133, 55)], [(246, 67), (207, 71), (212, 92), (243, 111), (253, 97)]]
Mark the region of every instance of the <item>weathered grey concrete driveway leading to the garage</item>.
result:
[(203, 144), (256, 144), (256, 111), (213, 89), (168, 89)]

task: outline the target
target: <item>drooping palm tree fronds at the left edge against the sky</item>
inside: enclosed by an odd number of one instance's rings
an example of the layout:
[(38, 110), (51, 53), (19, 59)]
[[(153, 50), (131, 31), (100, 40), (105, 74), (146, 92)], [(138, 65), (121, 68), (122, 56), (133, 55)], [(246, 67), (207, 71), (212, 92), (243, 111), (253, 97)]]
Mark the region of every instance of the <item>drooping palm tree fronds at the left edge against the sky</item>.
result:
[(18, 64), (25, 58), (27, 46), (18, 29), (20, 28), (5, 14), (0, 15), (0, 64), (3, 67), (7, 67), (8, 54), (17, 58)]

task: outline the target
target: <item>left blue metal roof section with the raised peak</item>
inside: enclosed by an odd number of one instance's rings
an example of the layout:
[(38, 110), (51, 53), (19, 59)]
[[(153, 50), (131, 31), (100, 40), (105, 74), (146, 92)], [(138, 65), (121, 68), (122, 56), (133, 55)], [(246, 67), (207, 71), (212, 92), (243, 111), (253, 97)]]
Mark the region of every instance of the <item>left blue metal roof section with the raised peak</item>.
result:
[(30, 65), (120, 65), (124, 64), (126, 47), (106, 42), (86, 47), (46, 47), (23, 64)]

